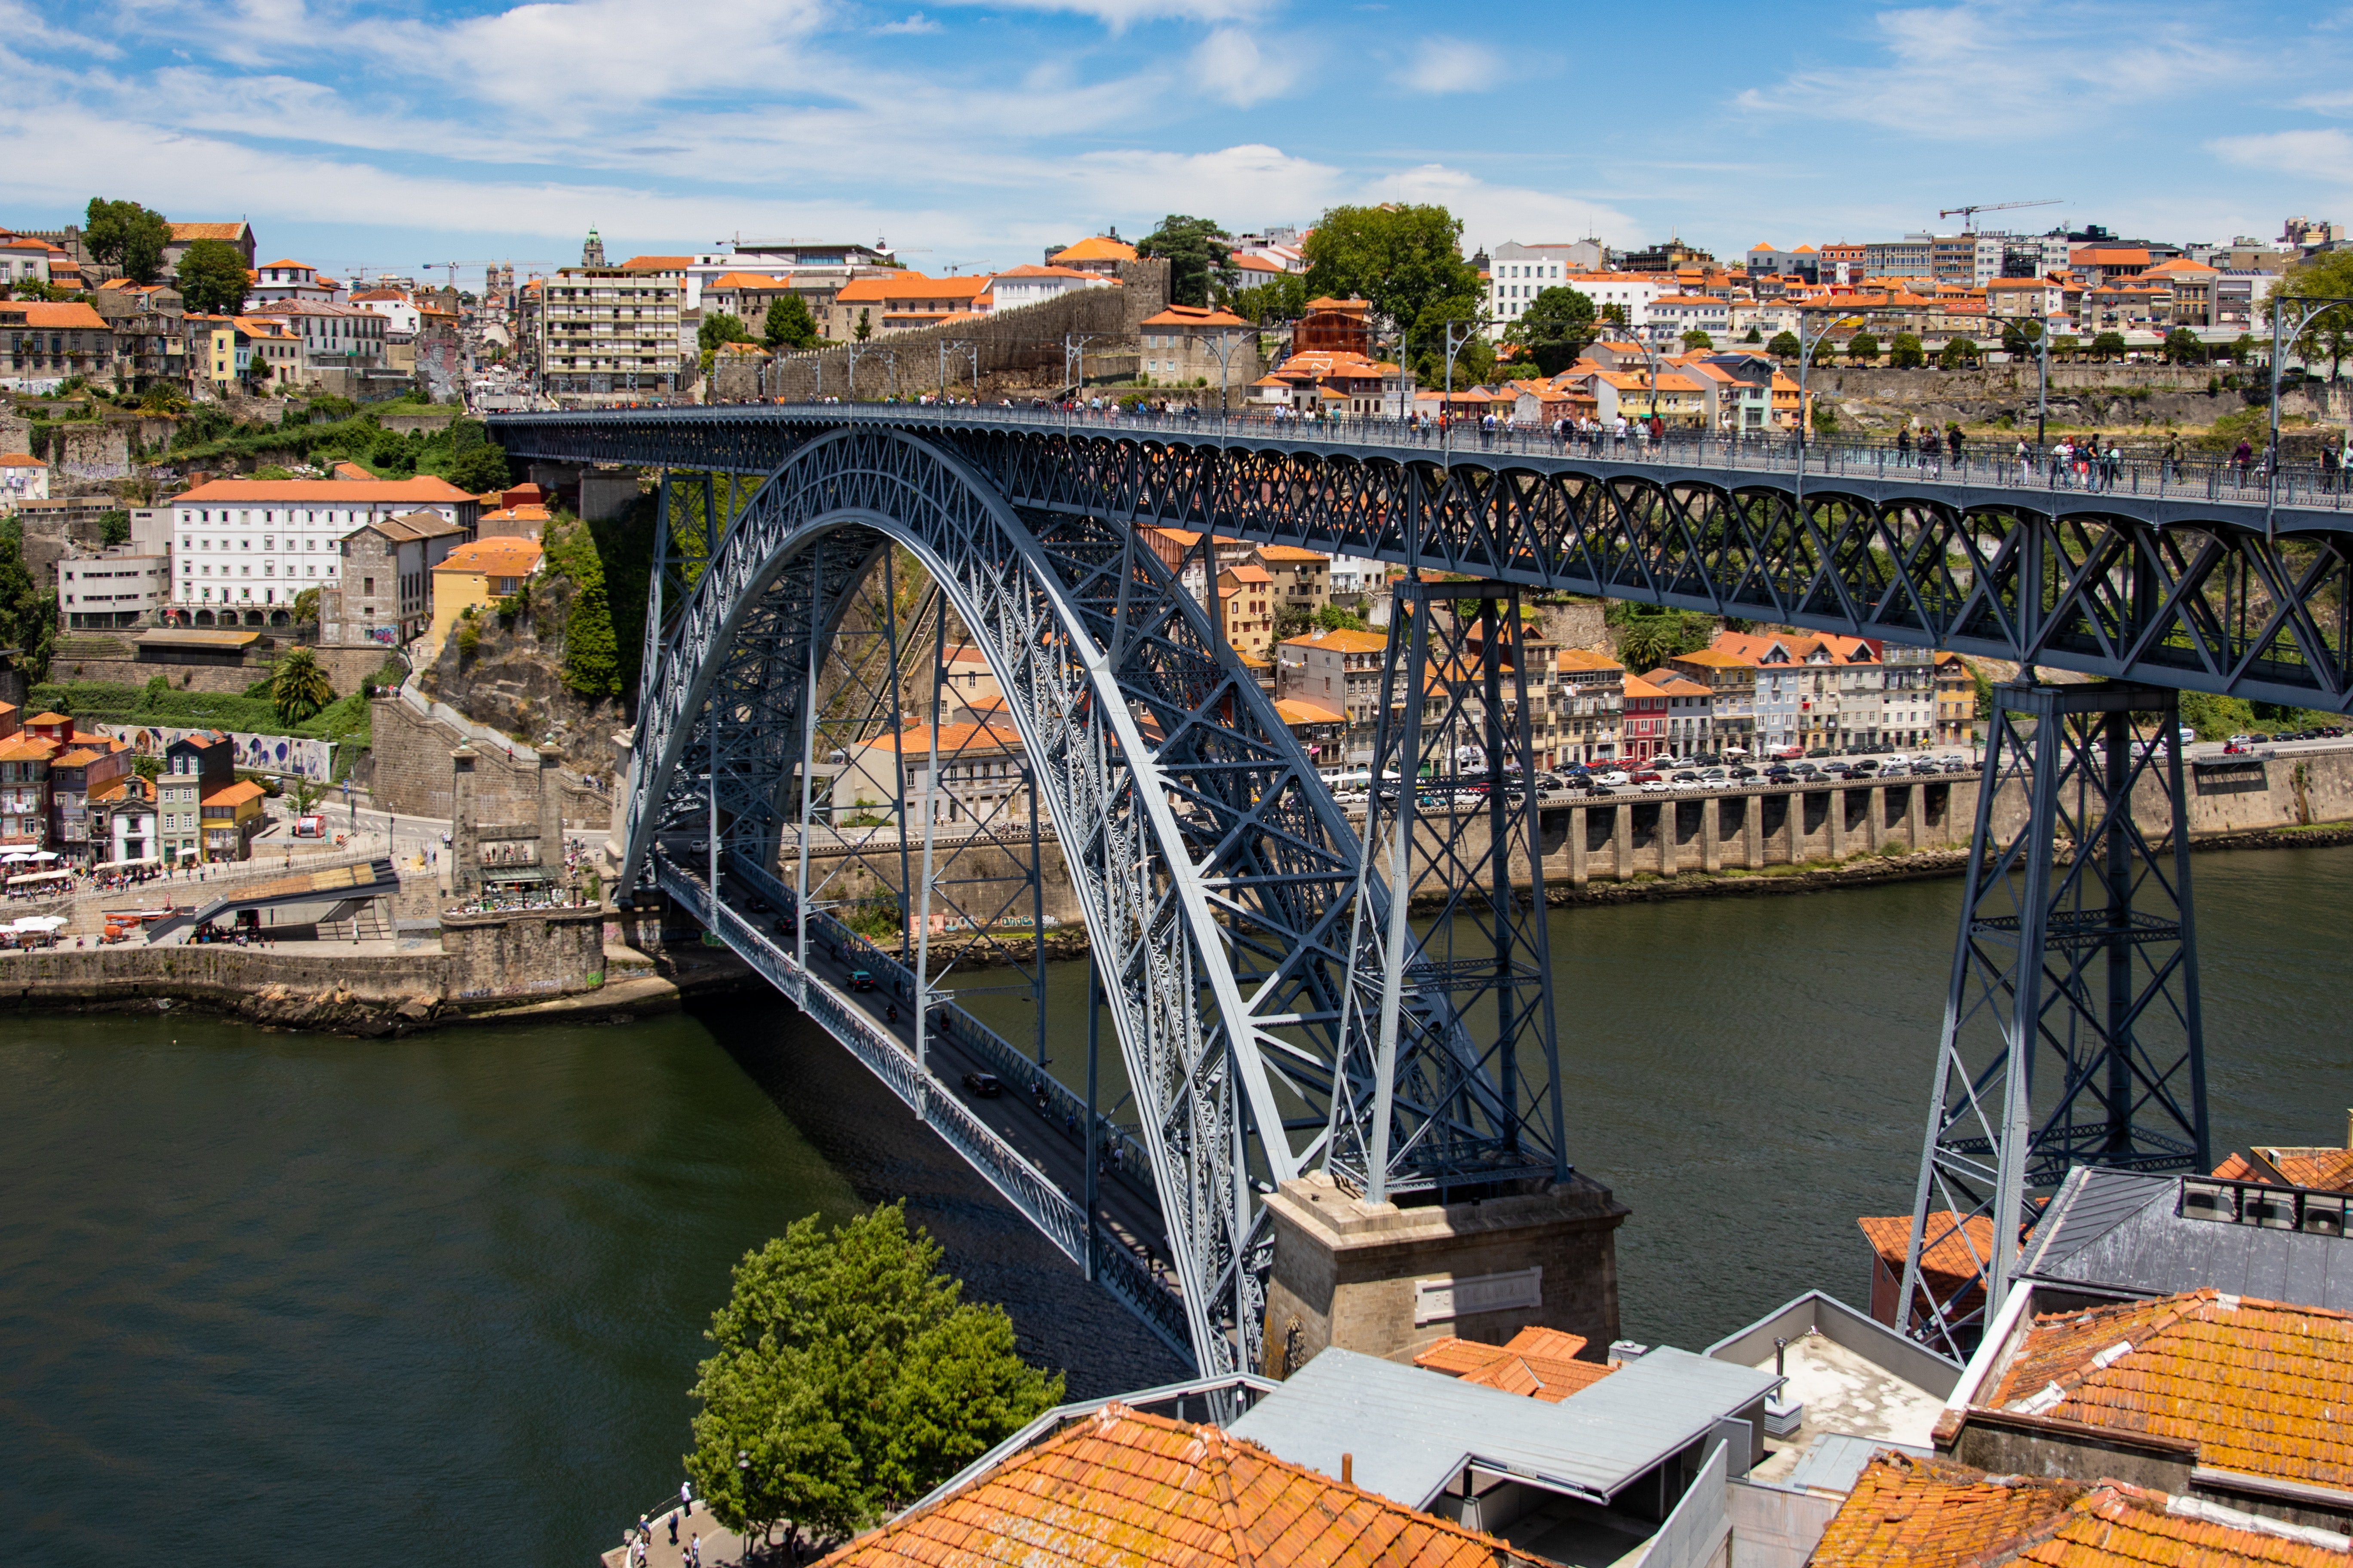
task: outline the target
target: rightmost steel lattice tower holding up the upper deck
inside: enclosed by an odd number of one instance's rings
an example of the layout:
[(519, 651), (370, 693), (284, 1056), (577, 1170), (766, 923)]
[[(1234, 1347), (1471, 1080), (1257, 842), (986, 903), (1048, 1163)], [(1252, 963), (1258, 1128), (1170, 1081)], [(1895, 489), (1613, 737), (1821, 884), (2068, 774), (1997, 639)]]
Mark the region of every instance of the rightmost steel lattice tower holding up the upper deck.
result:
[(1932, 1349), (1977, 1347), (2071, 1166), (2209, 1166), (2186, 820), (2172, 691), (1993, 689), (1897, 1298)]

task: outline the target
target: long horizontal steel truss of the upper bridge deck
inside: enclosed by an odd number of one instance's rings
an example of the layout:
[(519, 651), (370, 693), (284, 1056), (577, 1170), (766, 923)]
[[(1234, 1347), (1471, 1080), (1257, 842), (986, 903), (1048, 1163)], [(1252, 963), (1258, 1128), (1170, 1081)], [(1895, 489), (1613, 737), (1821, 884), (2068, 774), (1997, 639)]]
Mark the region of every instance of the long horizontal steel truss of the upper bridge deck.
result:
[(2353, 531), (2226, 498), (1807, 480), (998, 409), (496, 416), (518, 456), (765, 475), (826, 428), (951, 444), (1028, 510), (1207, 529), (1522, 588), (2353, 712)]

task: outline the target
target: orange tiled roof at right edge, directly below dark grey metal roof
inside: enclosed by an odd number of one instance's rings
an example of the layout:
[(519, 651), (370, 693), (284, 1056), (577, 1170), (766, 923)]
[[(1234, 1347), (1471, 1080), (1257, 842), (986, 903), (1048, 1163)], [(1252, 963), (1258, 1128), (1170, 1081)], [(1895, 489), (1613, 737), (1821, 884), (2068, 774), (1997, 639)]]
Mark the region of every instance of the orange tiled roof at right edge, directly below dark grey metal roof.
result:
[(2353, 1488), (2353, 1314), (2193, 1291), (2038, 1316), (1986, 1403)]

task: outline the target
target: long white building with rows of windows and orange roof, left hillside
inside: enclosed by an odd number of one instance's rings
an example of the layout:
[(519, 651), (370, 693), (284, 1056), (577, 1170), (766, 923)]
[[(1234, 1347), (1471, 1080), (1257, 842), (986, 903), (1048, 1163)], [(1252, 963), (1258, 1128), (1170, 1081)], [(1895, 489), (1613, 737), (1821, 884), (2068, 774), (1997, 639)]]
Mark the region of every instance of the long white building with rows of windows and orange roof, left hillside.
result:
[(480, 503), (433, 477), (198, 484), (172, 501), (172, 611), (191, 625), (292, 625), (294, 597), (336, 581), (346, 536), (419, 510), (471, 536)]

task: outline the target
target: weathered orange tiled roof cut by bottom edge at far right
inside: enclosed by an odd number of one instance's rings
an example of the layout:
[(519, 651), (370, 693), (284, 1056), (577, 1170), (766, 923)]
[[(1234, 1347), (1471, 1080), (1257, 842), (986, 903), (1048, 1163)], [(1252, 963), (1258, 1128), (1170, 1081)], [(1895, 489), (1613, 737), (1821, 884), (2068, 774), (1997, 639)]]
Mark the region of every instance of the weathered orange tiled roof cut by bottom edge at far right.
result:
[(2344, 1568), (2306, 1535), (2122, 1481), (1988, 1476), (1889, 1453), (1854, 1481), (1809, 1568)]

